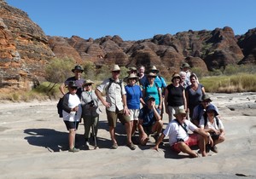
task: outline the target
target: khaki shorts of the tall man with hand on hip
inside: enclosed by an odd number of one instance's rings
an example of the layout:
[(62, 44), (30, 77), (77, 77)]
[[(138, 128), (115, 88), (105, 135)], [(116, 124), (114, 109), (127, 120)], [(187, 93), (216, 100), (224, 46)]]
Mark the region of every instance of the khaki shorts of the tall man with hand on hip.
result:
[(125, 115), (124, 110), (110, 112), (106, 109), (106, 113), (108, 118), (108, 126), (116, 127), (118, 118), (122, 124), (130, 123), (130, 117)]

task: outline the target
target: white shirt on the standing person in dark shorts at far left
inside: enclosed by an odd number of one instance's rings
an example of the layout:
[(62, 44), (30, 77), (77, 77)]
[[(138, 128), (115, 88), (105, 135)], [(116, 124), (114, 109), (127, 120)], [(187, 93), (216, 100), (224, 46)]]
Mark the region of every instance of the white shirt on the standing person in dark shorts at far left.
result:
[(70, 112), (67, 113), (66, 111), (62, 110), (63, 114), (63, 120), (74, 122), (74, 121), (79, 121), (82, 115), (82, 107), (81, 107), (81, 102), (79, 99), (78, 95), (71, 95), (69, 94), (68, 97), (68, 107), (73, 108), (73, 107), (79, 107), (78, 112)]

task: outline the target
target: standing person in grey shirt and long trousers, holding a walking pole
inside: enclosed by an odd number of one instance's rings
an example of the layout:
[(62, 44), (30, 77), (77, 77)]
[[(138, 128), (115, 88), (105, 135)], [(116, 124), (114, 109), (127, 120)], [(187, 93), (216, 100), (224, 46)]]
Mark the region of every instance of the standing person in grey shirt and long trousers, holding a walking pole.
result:
[[(87, 79), (84, 81), (83, 87), (84, 91), (81, 95), (81, 104), (82, 104), (82, 118), (84, 119), (84, 138), (85, 146), (89, 149), (89, 139), (90, 139), (90, 128), (92, 129), (92, 135), (97, 136), (98, 123), (99, 123), (99, 114), (101, 109), (99, 108), (99, 100), (95, 94), (95, 90), (92, 90), (93, 81)], [(96, 142), (96, 141), (94, 141)], [(94, 143), (96, 145), (96, 143)]]

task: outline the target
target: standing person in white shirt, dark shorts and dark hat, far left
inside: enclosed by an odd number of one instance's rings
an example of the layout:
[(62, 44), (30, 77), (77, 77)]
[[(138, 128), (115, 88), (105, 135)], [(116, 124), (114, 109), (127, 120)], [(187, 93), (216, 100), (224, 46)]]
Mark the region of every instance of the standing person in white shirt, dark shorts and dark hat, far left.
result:
[(63, 97), (62, 116), (66, 124), (68, 135), (69, 152), (79, 152), (79, 148), (75, 147), (75, 130), (78, 130), (79, 122), (82, 114), (82, 107), (79, 96), (76, 94), (78, 86), (74, 81), (67, 84), (68, 92)]

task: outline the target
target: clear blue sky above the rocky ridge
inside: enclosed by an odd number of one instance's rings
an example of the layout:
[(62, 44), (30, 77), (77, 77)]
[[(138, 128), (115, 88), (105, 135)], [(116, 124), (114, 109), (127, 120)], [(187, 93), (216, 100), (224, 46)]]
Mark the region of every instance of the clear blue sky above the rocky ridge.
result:
[(123, 40), (230, 26), (236, 35), (256, 27), (255, 0), (6, 0), (49, 36)]

